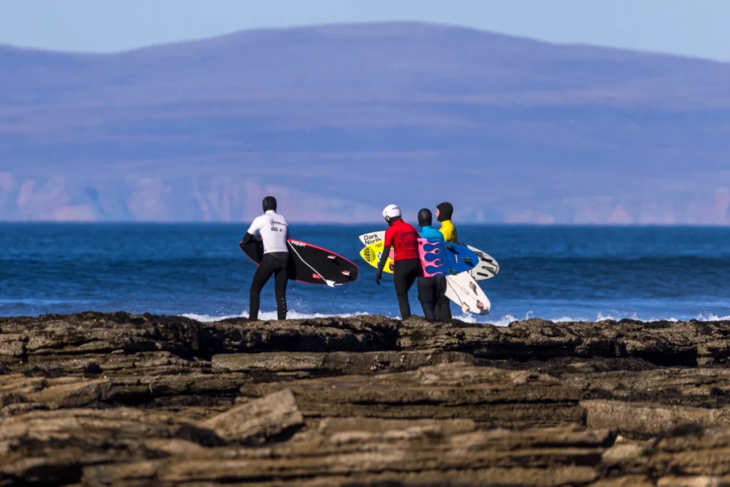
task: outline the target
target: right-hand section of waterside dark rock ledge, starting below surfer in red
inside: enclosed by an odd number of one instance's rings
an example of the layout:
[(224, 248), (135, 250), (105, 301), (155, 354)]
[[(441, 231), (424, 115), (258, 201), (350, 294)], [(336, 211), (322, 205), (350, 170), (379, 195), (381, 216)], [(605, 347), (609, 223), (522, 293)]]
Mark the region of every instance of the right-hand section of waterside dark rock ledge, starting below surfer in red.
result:
[[(532, 319), (510, 326), (406, 321), (399, 345), (404, 350), (459, 350), (491, 360), (549, 360), (559, 357), (631, 357), (658, 365), (722, 363), (730, 323), (601, 321), (553, 323)], [(700, 360), (701, 358), (701, 360)]]

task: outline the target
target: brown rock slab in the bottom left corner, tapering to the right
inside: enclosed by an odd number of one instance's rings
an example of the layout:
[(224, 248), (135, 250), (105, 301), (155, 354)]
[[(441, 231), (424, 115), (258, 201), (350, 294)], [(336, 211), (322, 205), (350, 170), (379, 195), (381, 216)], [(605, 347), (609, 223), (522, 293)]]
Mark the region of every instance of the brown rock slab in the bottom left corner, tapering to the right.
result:
[(32, 411), (0, 420), (0, 484), (76, 482), (84, 465), (224, 445), (210, 429), (129, 408)]

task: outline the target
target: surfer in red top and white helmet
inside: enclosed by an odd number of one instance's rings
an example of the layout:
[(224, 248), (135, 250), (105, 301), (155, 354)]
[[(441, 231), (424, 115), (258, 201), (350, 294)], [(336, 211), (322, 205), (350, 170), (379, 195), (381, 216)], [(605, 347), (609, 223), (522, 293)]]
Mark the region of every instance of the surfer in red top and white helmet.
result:
[(416, 278), (420, 275), (420, 258), (418, 256), (418, 231), (413, 226), (403, 221), (401, 209), (395, 204), (388, 204), (383, 210), (383, 218), (388, 222), (388, 229), (385, 230), (383, 241), (383, 254), (380, 264), (377, 266), (375, 282), (380, 285), (383, 278), (383, 267), (391, 248), (395, 253), (393, 256), (393, 283), (398, 296), (398, 306), (401, 309), (401, 319), (410, 318), (410, 304), (408, 303), (408, 291)]

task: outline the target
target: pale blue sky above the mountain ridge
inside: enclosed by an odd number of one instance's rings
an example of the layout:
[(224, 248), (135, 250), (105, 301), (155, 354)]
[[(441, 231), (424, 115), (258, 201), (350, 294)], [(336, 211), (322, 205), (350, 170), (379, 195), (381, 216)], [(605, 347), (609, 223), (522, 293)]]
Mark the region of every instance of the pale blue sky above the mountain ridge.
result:
[(115, 52), (250, 28), (418, 20), (730, 61), (729, 0), (0, 0), (0, 44)]

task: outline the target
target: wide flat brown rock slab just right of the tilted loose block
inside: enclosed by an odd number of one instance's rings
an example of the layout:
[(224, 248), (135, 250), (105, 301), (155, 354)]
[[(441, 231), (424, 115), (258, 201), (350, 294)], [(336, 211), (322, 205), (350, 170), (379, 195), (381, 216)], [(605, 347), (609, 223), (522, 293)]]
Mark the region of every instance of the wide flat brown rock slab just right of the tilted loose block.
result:
[[(264, 396), (275, 383), (250, 384), (242, 394)], [(461, 418), (483, 426), (556, 426), (583, 422), (580, 389), (534, 372), (466, 364), (414, 372), (348, 375), (287, 382), (306, 417)]]

